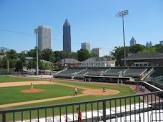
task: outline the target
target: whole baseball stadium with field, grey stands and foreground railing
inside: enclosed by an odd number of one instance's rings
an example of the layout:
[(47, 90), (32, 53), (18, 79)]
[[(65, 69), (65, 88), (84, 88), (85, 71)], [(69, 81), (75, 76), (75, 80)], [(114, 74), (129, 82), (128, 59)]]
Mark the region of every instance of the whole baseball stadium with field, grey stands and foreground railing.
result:
[(0, 119), (2, 122), (160, 120), (162, 84), (154, 79), (161, 79), (161, 69), (65, 68), (38, 77), (1, 75)]

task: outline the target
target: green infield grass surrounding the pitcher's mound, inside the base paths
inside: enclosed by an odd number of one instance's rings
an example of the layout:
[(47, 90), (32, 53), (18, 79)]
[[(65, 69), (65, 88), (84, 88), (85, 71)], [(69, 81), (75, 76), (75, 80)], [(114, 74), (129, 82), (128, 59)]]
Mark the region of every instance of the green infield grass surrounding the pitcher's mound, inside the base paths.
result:
[(62, 85), (34, 85), (36, 89), (45, 91), (40, 93), (23, 93), (24, 89), (30, 89), (31, 86), (16, 86), (0, 88), (0, 104), (24, 102), (30, 100), (40, 100), (46, 98), (56, 98), (74, 94), (74, 88)]

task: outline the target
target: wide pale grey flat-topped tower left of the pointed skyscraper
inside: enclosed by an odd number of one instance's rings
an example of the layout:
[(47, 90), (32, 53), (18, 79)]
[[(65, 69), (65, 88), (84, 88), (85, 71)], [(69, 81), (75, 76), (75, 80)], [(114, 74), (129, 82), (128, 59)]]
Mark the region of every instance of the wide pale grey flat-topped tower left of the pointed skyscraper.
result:
[(41, 25), (35, 29), (35, 33), (38, 40), (38, 49), (51, 49), (51, 29)]

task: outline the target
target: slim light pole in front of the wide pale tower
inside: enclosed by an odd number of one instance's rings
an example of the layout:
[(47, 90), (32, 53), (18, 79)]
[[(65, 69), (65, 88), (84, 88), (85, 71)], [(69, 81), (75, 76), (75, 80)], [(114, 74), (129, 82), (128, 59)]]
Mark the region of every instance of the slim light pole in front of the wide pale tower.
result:
[(36, 75), (39, 73), (39, 67), (38, 67), (38, 30), (35, 29), (36, 33)]

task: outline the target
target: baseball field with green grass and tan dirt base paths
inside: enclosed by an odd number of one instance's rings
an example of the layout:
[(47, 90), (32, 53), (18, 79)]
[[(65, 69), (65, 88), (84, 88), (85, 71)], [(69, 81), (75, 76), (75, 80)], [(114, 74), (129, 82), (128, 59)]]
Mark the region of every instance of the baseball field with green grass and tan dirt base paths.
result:
[(124, 84), (0, 76), (0, 109), (80, 102), (135, 93), (134, 86)]

